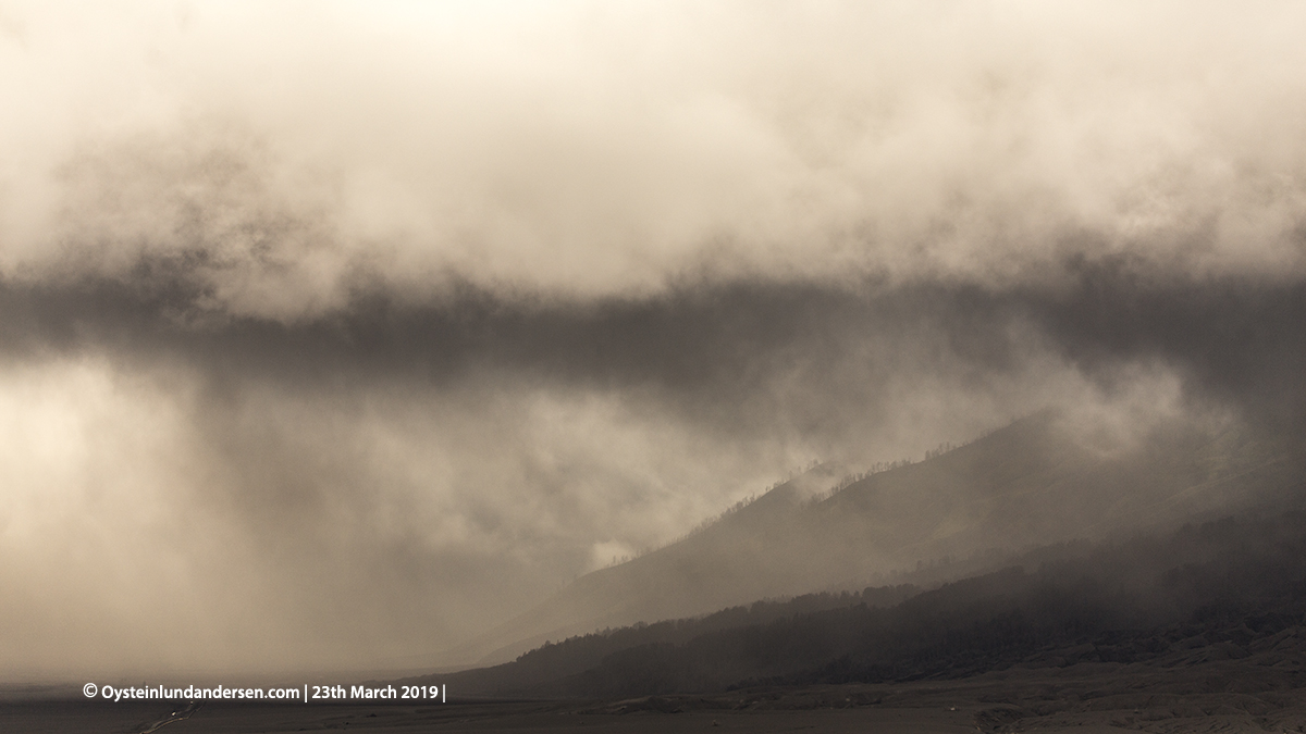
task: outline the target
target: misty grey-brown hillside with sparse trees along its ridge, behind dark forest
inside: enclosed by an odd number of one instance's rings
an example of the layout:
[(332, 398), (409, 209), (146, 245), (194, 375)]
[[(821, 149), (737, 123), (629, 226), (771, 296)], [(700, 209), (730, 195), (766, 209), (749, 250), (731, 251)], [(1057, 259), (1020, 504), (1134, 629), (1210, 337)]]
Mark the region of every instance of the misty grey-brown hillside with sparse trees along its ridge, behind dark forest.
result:
[[(449, 657), (494, 663), (546, 640), (859, 589), (895, 572), (940, 582), (995, 568), (1023, 547), (1280, 502), (1299, 464), (1282, 445), (1234, 428), (1162, 426), (1126, 445), (1042, 413), (807, 499), (812, 485), (837, 482), (818, 468), (703, 532), (579, 579)], [(902, 576), (913, 569), (921, 573)]]

